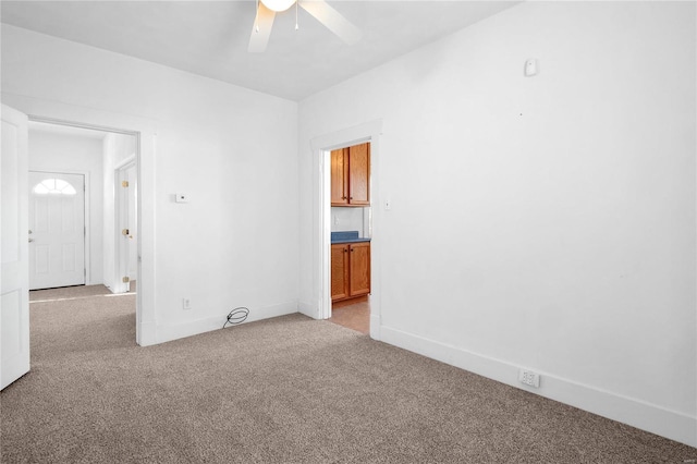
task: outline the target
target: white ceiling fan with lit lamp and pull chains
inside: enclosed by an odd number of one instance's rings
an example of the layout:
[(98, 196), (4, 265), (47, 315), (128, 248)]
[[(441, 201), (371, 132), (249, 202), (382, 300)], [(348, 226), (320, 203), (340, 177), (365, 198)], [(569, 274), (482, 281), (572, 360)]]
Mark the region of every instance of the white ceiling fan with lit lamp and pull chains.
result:
[[(325, 0), (257, 0), (257, 16), (252, 28), (247, 51), (253, 53), (265, 51), (269, 42), (276, 13), (286, 11), (294, 4), (296, 19), (297, 8), (299, 7), (315, 16), (329, 30), (337, 34), (344, 42), (353, 45), (360, 40), (360, 29), (331, 8)], [(295, 28), (297, 29), (297, 20)]]

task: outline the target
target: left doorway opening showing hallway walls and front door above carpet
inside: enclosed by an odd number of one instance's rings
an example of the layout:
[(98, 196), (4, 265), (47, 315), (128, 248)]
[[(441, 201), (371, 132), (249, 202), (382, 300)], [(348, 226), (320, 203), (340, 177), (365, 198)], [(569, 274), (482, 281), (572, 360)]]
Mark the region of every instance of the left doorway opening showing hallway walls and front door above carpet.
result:
[(30, 290), (133, 292), (138, 133), (37, 117), (28, 125)]

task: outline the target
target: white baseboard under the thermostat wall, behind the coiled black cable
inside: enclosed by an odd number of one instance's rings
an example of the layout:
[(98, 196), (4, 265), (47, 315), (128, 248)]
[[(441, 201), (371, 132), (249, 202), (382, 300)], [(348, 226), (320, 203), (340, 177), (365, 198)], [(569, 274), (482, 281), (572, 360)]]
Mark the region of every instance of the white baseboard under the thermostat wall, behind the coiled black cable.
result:
[[(280, 303), (260, 308), (249, 307), (248, 309), (249, 315), (243, 323), (297, 313), (297, 302)], [(156, 330), (156, 343), (170, 342), (172, 340), (210, 332), (211, 330), (222, 329), (227, 316), (228, 313), (205, 319), (189, 320), (183, 323), (159, 325)]]

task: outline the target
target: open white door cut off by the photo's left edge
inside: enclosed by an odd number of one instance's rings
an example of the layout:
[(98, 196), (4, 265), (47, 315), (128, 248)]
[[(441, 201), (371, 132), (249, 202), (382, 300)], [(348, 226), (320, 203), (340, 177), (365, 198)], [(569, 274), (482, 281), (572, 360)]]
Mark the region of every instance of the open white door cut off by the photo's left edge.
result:
[(29, 371), (27, 117), (2, 105), (0, 389)]

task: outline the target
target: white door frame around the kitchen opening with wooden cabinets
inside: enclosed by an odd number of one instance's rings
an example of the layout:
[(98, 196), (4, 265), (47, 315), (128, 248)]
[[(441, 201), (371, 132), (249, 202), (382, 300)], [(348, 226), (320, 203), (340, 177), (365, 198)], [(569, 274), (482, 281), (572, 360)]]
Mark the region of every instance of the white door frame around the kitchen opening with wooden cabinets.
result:
[[(380, 340), (380, 231), (382, 210), (379, 195), (380, 135), (382, 120), (367, 122), (354, 127), (326, 134), (310, 141), (314, 172), (316, 172), (316, 192), (313, 195), (316, 212), (313, 235), (316, 249), (313, 253), (313, 290), (318, 295), (317, 319), (331, 317), (331, 150), (352, 145), (370, 143), (370, 208), (372, 211), (371, 234), (371, 292), (370, 301), (370, 338)], [(375, 252), (374, 252), (375, 251)]]

